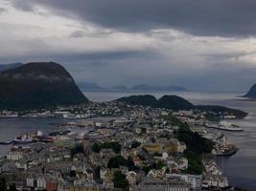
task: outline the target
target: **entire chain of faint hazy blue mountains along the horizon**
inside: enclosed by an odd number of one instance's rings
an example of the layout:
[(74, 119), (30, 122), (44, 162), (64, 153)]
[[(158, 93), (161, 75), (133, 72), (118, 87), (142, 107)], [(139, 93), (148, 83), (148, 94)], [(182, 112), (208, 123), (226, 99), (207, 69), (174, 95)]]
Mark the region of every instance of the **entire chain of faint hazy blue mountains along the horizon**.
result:
[(116, 85), (112, 87), (102, 87), (96, 83), (91, 82), (78, 82), (78, 86), (81, 88), (81, 90), (84, 91), (156, 91), (156, 92), (168, 92), (168, 91), (174, 91), (174, 92), (188, 92), (188, 89), (183, 86), (176, 86), (176, 85), (170, 85), (170, 86), (152, 86), (147, 84), (140, 84), (135, 85), (132, 87), (128, 87), (125, 85)]

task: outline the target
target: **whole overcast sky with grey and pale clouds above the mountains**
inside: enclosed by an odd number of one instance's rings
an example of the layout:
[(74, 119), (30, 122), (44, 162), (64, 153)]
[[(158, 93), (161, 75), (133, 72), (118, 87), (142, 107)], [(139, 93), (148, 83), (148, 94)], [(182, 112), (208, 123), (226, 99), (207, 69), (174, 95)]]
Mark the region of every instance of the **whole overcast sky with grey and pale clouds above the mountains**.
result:
[(55, 61), (78, 82), (243, 92), (255, 0), (0, 0), (0, 63)]

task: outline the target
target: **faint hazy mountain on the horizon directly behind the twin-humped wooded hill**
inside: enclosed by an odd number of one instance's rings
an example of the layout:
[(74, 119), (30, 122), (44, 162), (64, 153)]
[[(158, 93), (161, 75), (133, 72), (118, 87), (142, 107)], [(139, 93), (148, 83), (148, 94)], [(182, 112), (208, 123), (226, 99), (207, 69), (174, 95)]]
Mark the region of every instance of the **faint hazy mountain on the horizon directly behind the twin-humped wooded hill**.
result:
[(130, 88), (130, 90), (142, 90), (142, 91), (180, 91), (186, 92), (188, 91), (185, 87), (182, 86), (151, 86), (147, 84), (140, 84)]

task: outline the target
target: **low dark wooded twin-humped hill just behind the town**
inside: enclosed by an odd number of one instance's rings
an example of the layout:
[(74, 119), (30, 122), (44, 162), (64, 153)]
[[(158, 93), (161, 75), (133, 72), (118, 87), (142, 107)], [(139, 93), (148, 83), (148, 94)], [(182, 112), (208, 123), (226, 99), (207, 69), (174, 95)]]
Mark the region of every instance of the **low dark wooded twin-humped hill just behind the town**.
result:
[(207, 117), (211, 119), (218, 119), (221, 116), (233, 115), (236, 118), (244, 118), (247, 113), (241, 110), (226, 108), (216, 105), (194, 105), (190, 101), (180, 96), (162, 96), (156, 99), (151, 95), (143, 96), (124, 96), (116, 101), (125, 102), (131, 105), (151, 106), (155, 108), (166, 108), (174, 111), (180, 110), (194, 110), (207, 113)]

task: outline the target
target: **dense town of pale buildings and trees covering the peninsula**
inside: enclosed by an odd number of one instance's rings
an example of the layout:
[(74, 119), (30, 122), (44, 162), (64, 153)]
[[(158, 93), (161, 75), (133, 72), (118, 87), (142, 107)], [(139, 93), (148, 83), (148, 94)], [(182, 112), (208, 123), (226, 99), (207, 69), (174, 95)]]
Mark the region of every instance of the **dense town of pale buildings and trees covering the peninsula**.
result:
[[(207, 113), (172, 111), (124, 102), (90, 102), (55, 111), (1, 117), (59, 117), (57, 131), (1, 140), (0, 186), (10, 190), (239, 190), (229, 185), (216, 158), (236, 145), (209, 124)], [(225, 119), (221, 130), (241, 131)]]

